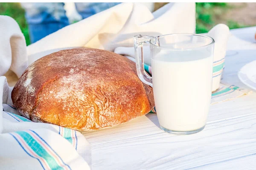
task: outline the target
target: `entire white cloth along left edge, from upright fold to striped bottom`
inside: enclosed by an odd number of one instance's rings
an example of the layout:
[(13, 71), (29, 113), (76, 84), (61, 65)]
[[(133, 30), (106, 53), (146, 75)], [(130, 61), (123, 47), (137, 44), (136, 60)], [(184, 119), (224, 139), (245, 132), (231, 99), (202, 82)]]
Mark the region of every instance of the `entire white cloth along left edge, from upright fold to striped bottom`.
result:
[(0, 169), (88, 170), (90, 144), (76, 130), (31, 122), (12, 106), (6, 77), (20, 77), (27, 67), (26, 43), (15, 20), (0, 16)]

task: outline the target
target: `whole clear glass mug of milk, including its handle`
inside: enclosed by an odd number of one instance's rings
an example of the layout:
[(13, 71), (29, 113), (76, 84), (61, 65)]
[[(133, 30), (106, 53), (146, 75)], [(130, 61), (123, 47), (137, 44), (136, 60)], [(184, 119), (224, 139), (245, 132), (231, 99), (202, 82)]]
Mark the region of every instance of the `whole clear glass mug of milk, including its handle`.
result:
[[(143, 56), (148, 47), (150, 56)], [(134, 48), (137, 74), (153, 87), (162, 130), (176, 134), (203, 130), (212, 94), (214, 40), (200, 34), (137, 35)], [(149, 57), (152, 76), (144, 70), (144, 60), (150, 65)]]

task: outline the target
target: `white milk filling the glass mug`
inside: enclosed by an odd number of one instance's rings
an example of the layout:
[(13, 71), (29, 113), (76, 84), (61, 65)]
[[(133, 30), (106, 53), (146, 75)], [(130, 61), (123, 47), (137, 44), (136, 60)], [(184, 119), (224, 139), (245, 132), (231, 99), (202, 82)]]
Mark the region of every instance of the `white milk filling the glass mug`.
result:
[(160, 51), (151, 59), (154, 101), (162, 127), (204, 127), (212, 92), (212, 54), (205, 50)]

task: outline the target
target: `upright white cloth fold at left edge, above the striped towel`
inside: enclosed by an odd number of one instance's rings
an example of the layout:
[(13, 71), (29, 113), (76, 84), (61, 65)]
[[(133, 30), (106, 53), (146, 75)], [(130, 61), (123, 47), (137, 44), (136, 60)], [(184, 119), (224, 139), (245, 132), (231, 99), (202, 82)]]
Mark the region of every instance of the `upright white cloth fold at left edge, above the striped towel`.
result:
[(1, 16), (0, 28), (0, 75), (10, 69), (20, 77), (28, 67), (24, 36), (12, 17)]

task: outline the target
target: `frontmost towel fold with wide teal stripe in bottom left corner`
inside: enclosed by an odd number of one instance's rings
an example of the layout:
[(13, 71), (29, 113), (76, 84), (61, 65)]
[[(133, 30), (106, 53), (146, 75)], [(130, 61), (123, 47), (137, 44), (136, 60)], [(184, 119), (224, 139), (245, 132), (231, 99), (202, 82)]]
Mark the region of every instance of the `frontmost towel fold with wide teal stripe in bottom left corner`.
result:
[(52, 130), (37, 128), (0, 134), (0, 169), (89, 170), (70, 143)]

